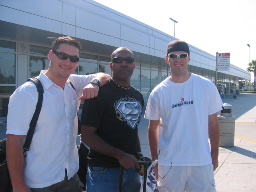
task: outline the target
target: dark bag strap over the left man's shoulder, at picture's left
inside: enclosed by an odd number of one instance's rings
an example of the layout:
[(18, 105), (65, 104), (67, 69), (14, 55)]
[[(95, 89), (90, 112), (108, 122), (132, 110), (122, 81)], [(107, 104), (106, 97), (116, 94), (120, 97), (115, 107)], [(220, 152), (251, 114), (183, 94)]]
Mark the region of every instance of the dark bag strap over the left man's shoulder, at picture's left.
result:
[(37, 89), (37, 92), (38, 92), (38, 101), (37, 101), (37, 104), (36, 104), (36, 110), (34, 112), (32, 120), (29, 124), (28, 134), (27, 134), (24, 146), (23, 146), (24, 157), (26, 157), (26, 151), (29, 150), (30, 143), (32, 141), (32, 137), (33, 137), (33, 134), (34, 134), (34, 131), (35, 131), (35, 128), (36, 128), (36, 123), (37, 123), (37, 120), (38, 120), (38, 117), (39, 117), (39, 114), (40, 114), (40, 111), (41, 111), (41, 108), (42, 108), (43, 93), (44, 93), (44, 88), (43, 88), (40, 80), (38, 80), (37, 78), (30, 78), (30, 79), (28, 79), (28, 81), (33, 81), (34, 84), (36, 84), (36, 89)]

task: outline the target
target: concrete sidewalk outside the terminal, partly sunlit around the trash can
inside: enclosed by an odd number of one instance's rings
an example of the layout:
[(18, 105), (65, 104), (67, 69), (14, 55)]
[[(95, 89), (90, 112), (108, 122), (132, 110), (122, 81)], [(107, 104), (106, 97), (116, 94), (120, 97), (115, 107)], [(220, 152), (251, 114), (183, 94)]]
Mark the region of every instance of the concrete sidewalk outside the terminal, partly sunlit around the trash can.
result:
[[(232, 105), (232, 115), (236, 118), (235, 138), (233, 147), (219, 148), (219, 167), (214, 172), (216, 190), (256, 192), (256, 94), (240, 93), (236, 99), (222, 98), (222, 101)], [(138, 134), (142, 153), (151, 158), (148, 122), (142, 118)], [(6, 122), (0, 122), (0, 140), (6, 138), (5, 133)]]

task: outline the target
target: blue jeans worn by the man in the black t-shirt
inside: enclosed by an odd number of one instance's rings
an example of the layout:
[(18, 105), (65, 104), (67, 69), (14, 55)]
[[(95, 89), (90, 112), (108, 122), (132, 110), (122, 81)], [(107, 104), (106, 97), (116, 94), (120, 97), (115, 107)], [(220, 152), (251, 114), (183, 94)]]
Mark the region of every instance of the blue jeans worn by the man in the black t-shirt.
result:
[[(88, 166), (86, 192), (118, 192), (120, 168)], [(124, 169), (122, 192), (139, 192), (141, 176), (138, 169)]]

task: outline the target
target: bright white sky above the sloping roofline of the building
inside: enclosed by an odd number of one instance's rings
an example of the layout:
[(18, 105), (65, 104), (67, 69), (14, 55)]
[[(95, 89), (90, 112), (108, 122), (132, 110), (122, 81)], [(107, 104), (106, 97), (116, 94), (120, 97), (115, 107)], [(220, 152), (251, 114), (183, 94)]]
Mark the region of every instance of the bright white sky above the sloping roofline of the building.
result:
[(256, 60), (256, 0), (94, 1), (174, 36), (172, 18), (176, 38), (214, 56), (230, 53), (243, 70)]

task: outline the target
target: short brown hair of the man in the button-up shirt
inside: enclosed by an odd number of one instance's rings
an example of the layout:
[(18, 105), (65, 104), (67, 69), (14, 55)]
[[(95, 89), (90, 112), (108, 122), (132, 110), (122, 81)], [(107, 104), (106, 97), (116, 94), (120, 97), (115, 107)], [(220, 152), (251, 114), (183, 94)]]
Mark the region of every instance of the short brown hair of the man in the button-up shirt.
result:
[(78, 42), (77, 40), (75, 40), (74, 38), (72, 38), (70, 36), (66, 36), (66, 37), (63, 36), (63, 37), (56, 38), (52, 42), (52, 50), (57, 50), (60, 47), (60, 44), (73, 45), (76, 48), (78, 48), (79, 54), (82, 52), (82, 45), (80, 44), (80, 42)]

